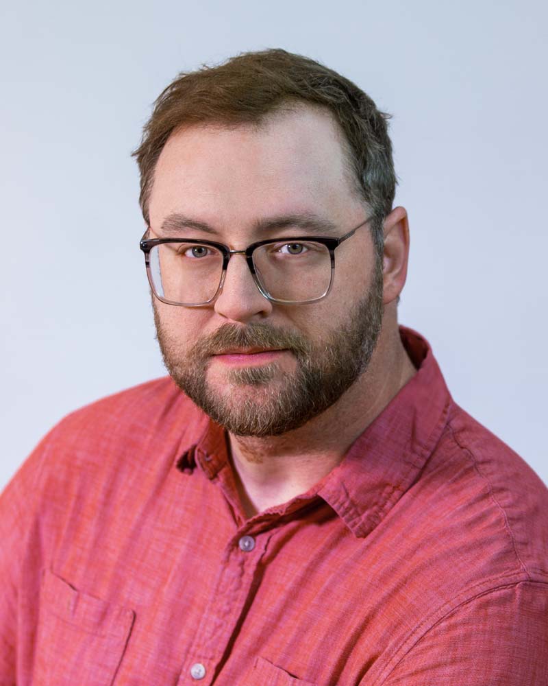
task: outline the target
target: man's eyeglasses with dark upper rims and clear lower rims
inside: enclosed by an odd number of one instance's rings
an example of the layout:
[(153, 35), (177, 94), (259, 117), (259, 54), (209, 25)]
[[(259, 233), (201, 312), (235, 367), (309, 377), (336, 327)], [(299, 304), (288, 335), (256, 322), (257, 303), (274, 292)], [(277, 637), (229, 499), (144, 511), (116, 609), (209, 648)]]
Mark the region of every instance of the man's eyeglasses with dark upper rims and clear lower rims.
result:
[(265, 298), (279, 305), (304, 305), (327, 296), (333, 284), (336, 248), (369, 219), (340, 238), (275, 238), (252, 243), (245, 250), (187, 238), (148, 239), (147, 230), (139, 247), (145, 253), (152, 292), (167, 305), (200, 307), (212, 303), (223, 289), (233, 255), (245, 255)]

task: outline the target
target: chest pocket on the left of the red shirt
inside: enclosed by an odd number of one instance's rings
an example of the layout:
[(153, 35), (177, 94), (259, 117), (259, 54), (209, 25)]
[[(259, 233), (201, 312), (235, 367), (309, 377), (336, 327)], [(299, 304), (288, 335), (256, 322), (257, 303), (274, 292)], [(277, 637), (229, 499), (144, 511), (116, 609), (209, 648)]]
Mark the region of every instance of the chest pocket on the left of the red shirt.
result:
[(135, 613), (73, 588), (46, 570), (33, 686), (110, 686)]

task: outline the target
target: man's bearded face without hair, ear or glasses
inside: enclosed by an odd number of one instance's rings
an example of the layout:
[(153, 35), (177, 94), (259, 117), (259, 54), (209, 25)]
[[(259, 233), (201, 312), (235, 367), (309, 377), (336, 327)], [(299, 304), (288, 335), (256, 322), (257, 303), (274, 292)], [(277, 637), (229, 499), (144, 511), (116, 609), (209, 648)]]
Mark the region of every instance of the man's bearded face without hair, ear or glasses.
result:
[[(149, 211), (151, 237), (209, 239), (235, 250), (261, 239), (314, 237), (288, 217), (329, 223), (321, 234), (334, 237), (366, 218), (338, 130), (312, 108), (277, 114), (260, 128), (172, 134)], [(332, 291), (308, 305), (266, 300), (242, 255), (230, 259), (214, 303), (154, 300), (164, 362), (179, 387), (243, 436), (283, 434), (338, 401), (366, 369), (381, 328), (382, 265), (369, 228), (337, 248), (335, 263)]]

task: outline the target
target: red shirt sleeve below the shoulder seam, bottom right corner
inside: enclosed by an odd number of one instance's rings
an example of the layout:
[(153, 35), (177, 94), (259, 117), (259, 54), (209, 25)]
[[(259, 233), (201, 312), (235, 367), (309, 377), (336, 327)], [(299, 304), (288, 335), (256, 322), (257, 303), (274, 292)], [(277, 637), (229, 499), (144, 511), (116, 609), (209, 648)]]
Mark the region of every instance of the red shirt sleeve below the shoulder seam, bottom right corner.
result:
[(548, 583), (519, 582), (435, 624), (379, 686), (547, 686)]

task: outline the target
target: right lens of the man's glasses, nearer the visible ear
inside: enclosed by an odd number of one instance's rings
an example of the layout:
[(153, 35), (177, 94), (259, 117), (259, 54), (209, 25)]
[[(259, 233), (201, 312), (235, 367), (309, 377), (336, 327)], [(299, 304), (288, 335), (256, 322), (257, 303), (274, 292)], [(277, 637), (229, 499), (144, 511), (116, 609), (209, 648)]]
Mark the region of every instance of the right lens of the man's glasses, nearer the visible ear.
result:
[(257, 277), (266, 293), (288, 303), (316, 300), (331, 283), (331, 255), (321, 243), (276, 241), (253, 251)]

